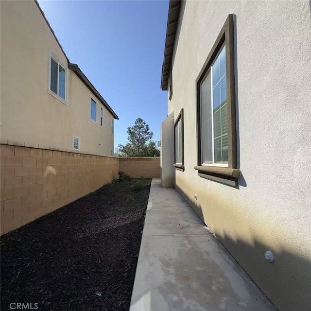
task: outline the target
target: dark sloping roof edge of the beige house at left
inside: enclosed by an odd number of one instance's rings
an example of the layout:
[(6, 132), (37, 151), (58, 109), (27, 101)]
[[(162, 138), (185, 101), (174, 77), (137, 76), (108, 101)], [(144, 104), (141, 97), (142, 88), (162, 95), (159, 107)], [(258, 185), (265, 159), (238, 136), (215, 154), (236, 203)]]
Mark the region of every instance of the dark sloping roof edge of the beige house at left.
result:
[(80, 78), (80, 80), (90, 89), (90, 91), (92, 91), (94, 93), (94, 95), (100, 100), (100, 102), (108, 109), (108, 111), (113, 115), (113, 117), (117, 120), (119, 120), (119, 117), (117, 116), (117, 114), (112, 110), (112, 108), (107, 104), (107, 102), (104, 100), (103, 96), (98, 92), (98, 90), (91, 84), (91, 82), (86, 78), (86, 75), (82, 72), (82, 70), (79, 68), (79, 66), (77, 64), (72, 64), (69, 61), (69, 58), (67, 57), (65, 51), (63, 50), (63, 47), (61, 46), (61, 44), (59, 43), (49, 21), (47, 20), (47, 18), (44, 15), (44, 12), (42, 11), (42, 9), (40, 8), (40, 5), (38, 3), (37, 0), (35, 0), (35, 4), (37, 5), (37, 7), (39, 8), (43, 18), (45, 19), (46, 23), (48, 24), (57, 44), (59, 45), (60, 49), (62, 50), (62, 52), (64, 53), (67, 62), (68, 62), (68, 68), (71, 69), (72, 71), (75, 72), (75, 74)]

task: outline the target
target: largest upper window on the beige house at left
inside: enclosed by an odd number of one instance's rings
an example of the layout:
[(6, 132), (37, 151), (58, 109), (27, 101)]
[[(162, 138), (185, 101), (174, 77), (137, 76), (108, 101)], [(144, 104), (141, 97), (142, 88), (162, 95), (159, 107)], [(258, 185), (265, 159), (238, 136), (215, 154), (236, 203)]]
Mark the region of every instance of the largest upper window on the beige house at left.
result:
[(66, 99), (66, 69), (52, 56), (50, 68), (50, 90), (63, 100)]

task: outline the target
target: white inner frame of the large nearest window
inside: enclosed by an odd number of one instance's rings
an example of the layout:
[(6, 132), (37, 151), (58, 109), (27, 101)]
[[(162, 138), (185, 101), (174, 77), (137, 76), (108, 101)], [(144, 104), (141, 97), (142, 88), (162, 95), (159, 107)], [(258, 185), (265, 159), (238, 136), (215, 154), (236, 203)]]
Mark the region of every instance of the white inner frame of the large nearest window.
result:
[[(223, 51), (223, 48), (225, 47), (225, 43), (222, 45), (222, 47), (219, 49), (218, 53), (216, 54), (216, 56), (214, 57), (214, 60), (212, 62), (212, 64), (210, 65), (209, 69), (207, 70), (207, 73), (205, 74), (204, 78), (202, 79), (201, 82), (201, 86), (203, 84), (203, 82), (205, 81), (205, 79), (207, 78), (207, 75), (210, 73), (210, 94), (211, 94), (211, 113), (212, 113), (212, 160), (213, 163), (201, 163), (202, 166), (218, 166), (218, 167), (229, 167), (229, 163), (215, 163), (215, 139), (214, 139), (214, 111), (213, 111), (213, 65), (217, 59), (217, 57), (220, 55), (220, 53)], [(226, 72), (227, 74), (227, 72)], [(201, 97), (201, 86), (200, 86), (200, 97)], [(202, 103), (200, 105), (200, 115), (202, 116)], [(202, 119), (201, 119), (201, 159), (203, 159), (203, 148), (202, 148)]]

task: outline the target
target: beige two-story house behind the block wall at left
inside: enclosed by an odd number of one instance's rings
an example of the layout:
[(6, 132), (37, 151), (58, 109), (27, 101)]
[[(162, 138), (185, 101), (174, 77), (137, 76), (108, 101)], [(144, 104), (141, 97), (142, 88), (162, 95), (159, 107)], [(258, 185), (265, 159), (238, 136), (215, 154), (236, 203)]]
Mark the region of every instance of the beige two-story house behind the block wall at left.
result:
[(69, 62), (37, 1), (1, 1), (0, 100), (4, 143), (113, 155), (118, 116)]

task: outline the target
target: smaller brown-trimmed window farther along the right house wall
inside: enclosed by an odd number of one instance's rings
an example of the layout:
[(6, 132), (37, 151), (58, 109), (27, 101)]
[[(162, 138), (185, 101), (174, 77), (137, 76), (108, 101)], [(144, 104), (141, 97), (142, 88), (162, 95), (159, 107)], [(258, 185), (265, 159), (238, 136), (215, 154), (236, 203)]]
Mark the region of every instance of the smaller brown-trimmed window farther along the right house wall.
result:
[(181, 109), (174, 123), (175, 168), (184, 170), (184, 109)]

